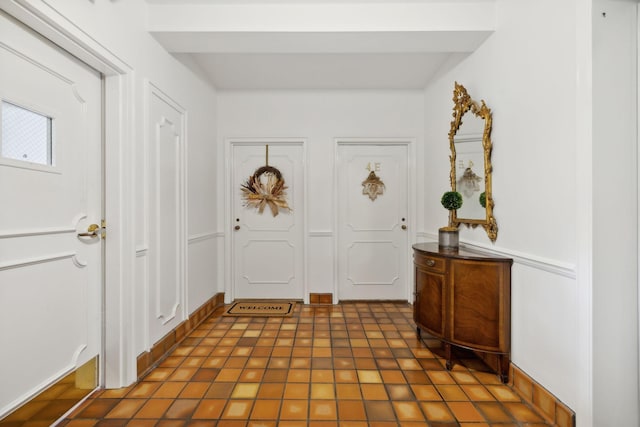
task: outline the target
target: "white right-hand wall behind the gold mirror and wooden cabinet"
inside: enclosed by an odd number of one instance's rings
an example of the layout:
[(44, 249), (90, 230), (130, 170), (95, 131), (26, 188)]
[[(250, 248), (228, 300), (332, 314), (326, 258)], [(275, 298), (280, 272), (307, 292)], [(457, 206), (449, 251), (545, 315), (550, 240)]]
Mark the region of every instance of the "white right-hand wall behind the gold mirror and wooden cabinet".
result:
[[(495, 33), (425, 91), (426, 231), (446, 220), (447, 132), (454, 81), (493, 111), (493, 196), (499, 231), (463, 228), (461, 242), (515, 258), (512, 361), (570, 407), (577, 404), (575, 281), (576, 65), (573, 2), (498, 1)], [(544, 29), (544, 30), (543, 30)]]

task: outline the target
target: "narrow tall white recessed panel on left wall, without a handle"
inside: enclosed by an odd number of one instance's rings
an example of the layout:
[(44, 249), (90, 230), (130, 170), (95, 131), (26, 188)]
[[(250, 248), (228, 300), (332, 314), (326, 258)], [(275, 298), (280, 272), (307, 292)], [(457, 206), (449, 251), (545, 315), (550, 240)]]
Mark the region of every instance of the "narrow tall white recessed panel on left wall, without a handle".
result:
[(185, 319), (185, 112), (149, 84), (149, 344)]

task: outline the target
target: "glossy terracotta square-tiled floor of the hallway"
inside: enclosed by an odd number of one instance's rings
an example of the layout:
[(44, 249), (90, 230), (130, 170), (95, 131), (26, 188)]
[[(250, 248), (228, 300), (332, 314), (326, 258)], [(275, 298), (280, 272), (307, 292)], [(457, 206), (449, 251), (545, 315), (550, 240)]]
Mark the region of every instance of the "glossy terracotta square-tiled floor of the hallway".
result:
[(94, 393), (59, 425), (482, 427), (550, 424), (469, 354), (444, 368), (400, 303), (219, 310), (131, 387)]

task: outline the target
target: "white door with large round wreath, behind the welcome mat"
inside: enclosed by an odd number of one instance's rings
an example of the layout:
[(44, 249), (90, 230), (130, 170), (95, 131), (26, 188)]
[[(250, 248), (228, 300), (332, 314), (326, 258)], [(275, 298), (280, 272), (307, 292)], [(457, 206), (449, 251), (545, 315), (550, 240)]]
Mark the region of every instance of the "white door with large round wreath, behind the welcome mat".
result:
[[(235, 143), (232, 149), (232, 297), (303, 299), (303, 146)], [(260, 173), (267, 164), (280, 172), (283, 192), (270, 187), (277, 182), (273, 170)], [(260, 181), (254, 190), (259, 186), (262, 195), (242, 190), (250, 177)]]

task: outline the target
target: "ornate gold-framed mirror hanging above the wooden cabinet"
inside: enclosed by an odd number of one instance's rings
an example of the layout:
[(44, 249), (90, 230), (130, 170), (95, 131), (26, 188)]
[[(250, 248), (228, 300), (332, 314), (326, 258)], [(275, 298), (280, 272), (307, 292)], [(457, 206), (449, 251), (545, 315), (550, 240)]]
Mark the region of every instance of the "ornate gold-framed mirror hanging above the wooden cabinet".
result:
[(491, 110), (471, 99), (464, 86), (453, 89), (453, 121), (449, 131), (451, 189), (462, 195), (453, 224), (482, 225), (492, 242), (498, 237), (491, 194)]

